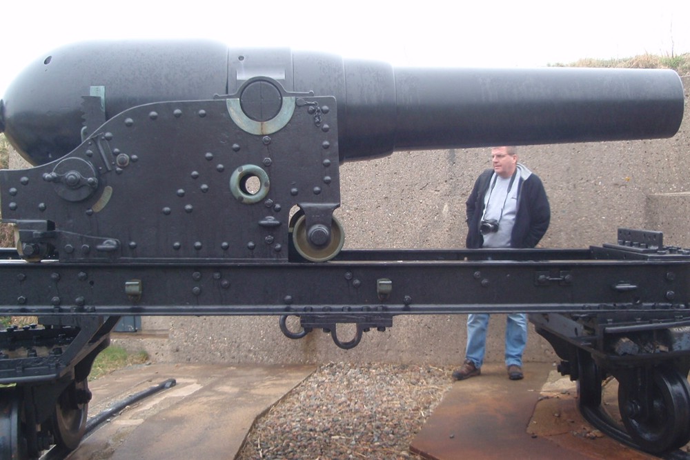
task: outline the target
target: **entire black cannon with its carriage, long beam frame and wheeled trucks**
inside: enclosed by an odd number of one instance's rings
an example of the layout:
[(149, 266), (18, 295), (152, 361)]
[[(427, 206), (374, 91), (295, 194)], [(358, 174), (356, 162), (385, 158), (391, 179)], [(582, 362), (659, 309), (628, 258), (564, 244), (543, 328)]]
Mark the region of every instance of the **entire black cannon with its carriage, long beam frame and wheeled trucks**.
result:
[[(353, 348), (397, 314), (529, 312), (591, 420), (611, 426), (598, 408), (612, 374), (625, 427), (607, 432), (678, 448), (690, 252), (631, 230), (586, 250), (342, 251), (333, 211), (348, 159), (671, 137), (683, 106), (671, 70), (392, 68), (209, 42), (46, 54), (0, 102), (0, 128), (35, 165), (0, 171), (17, 234), (0, 314), (41, 323), (0, 332), (0, 383), (15, 384), (0, 392), (0, 457), (79, 445), (86, 377), (125, 314), (272, 314), (290, 338), (321, 328)], [(357, 324), (353, 340), (340, 323)]]

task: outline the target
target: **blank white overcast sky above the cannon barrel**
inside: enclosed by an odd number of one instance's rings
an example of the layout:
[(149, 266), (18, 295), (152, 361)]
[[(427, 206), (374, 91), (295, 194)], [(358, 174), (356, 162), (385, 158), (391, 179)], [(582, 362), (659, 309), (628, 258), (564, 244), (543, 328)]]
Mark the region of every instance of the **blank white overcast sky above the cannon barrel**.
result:
[[(5, 0), (0, 97), (34, 59), (92, 39), (208, 38), (395, 66), (540, 67), (690, 52), (688, 0)], [(402, 6), (408, 5), (408, 6)]]

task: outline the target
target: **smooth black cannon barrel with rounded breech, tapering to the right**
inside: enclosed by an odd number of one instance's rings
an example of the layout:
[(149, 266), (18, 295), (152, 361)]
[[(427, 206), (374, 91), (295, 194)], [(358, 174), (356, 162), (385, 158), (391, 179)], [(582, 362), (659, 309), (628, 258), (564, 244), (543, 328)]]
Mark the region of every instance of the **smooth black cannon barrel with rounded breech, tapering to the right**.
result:
[(0, 101), (0, 130), (30, 163), (43, 164), (81, 143), (85, 96), (102, 97), (105, 121), (144, 103), (237, 94), (254, 77), (335, 97), (341, 161), (394, 150), (671, 137), (683, 115), (672, 70), (393, 68), (209, 41), (97, 41), (28, 66)]

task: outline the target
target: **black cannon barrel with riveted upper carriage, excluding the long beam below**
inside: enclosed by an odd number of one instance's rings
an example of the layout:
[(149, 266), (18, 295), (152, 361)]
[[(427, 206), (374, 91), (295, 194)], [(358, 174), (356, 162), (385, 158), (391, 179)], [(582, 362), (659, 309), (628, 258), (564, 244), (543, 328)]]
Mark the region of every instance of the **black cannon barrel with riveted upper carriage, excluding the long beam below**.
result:
[[(3, 98), (8, 139), (43, 166), (28, 186), (19, 173), (0, 179), (17, 190), (2, 215), (33, 259), (284, 259), (296, 226), (299, 254), (324, 261), (344, 238), (332, 222), (339, 162), (670, 137), (682, 112), (671, 70), (400, 69), (208, 42), (84, 43), (32, 63)], [(147, 199), (132, 207), (135, 195)], [(108, 229), (100, 239), (95, 225)], [(141, 234), (161, 227), (169, 239)]]

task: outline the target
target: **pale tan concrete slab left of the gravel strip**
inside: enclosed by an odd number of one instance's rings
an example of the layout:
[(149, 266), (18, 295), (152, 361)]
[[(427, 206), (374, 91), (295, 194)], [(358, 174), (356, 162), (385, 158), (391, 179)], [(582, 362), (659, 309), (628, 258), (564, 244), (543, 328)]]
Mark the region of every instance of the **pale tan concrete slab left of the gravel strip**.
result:
[(167, 379), (177, 385), (128, 406), (69, 458), (232, 459), (255, 419), (314, 369), (154, 364), (113, 372), (90, 383), (90, 416)]

